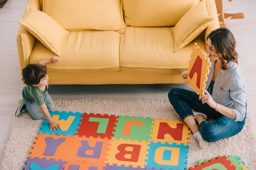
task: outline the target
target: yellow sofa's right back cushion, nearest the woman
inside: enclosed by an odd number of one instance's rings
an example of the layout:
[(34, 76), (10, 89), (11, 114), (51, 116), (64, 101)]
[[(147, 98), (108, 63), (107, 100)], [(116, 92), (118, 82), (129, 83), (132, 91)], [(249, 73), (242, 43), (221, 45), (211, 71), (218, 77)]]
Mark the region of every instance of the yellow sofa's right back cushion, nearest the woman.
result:
[(122, 6), (128, 26), (175, 26), (198, 2), (200, 0), (122, 0)]

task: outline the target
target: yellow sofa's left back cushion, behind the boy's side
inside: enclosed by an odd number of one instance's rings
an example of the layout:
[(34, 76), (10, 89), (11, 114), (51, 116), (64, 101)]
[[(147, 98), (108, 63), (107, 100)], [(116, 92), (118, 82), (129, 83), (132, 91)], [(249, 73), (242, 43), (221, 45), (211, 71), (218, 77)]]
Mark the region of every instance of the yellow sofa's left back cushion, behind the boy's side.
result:
[(120, 0), (43, 0), (43, 12), (66, 30), (125, 32)]

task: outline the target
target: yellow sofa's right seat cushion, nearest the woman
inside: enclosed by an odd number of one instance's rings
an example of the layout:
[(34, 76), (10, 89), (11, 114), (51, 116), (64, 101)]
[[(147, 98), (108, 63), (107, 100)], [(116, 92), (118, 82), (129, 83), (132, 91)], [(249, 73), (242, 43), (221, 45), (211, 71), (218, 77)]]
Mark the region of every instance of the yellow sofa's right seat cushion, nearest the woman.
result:
[(148, 73), (177, 73), (187, 69), (194, 43), (205, 52), (200, 34), (195, 40), (173, 52), (170, 27), (131, 27), (121, 34), (120, 70)]

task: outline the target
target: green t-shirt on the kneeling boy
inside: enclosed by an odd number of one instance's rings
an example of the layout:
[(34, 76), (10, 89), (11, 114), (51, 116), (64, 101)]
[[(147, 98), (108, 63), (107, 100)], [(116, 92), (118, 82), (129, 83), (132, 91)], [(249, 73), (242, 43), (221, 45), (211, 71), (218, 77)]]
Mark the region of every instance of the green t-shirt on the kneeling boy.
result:
[(45, 91), (41, 91), (39, 88), (26, 85), (22, 90), (22, 96), (29, 101), (35, 101), (37, 105), (44, 104), (44, 96), (48, 93), (48, 84)]

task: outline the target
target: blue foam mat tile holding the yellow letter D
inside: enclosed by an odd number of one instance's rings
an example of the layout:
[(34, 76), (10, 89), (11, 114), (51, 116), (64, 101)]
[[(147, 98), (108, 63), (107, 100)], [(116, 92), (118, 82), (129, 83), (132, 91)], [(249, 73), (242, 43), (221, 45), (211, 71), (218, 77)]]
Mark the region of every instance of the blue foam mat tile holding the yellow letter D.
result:
[[(155, 152), (156, 150), (159, 151), (158, 148), (161, 148), (161, 147), (166, 147), (166, 148), (170, 148), (170, 150), (166, 149), (163, 151), (163, 155), (157, 155), (157, 157), (161, 160), (163, 160), (163, 162), (166, 162), (166, 164), (158, 164), (155, 160)], [(161, 142), (157, 142), (157, 143), (154, 143), (154, 142), (150, 142), (149, 144), (149, 148), (148, 149), (148, 160), (146, 160), (147, 162), (147, 165), (146, 167), (149, 169), (151, 168), (155, 168), (155, 167), (158, 167), (157, 169), (160, 170), (161, 168), (165, 168), (166, 170), (169, 170), (169, 169), (174, 169), (174, 170), (177, 170), (177, 169), (180, 169), (180, 170), (184, 170), (187, 168), (187, 159), (188, 159), (188, 152), (189, 152), (189, 145), (184, 145), (184, 144), (176, 144), (176, 143), (172, 143), (172, 144), (169, 144), (168, 142), (166, 143), (161, 143)], [(173, 150), (176, 150), (176, 152), (179, 151), (178, 156), (179, 156), (179, 159), (178, 159), (178, 162), (177, 164), (170, 164), (170, 161), (177, 157), (177, 155), (174, 155), (175, 154), (175, 151), (172, 152), (172, 149)], [(176, 163), (176, 162), (175, 162)]]

